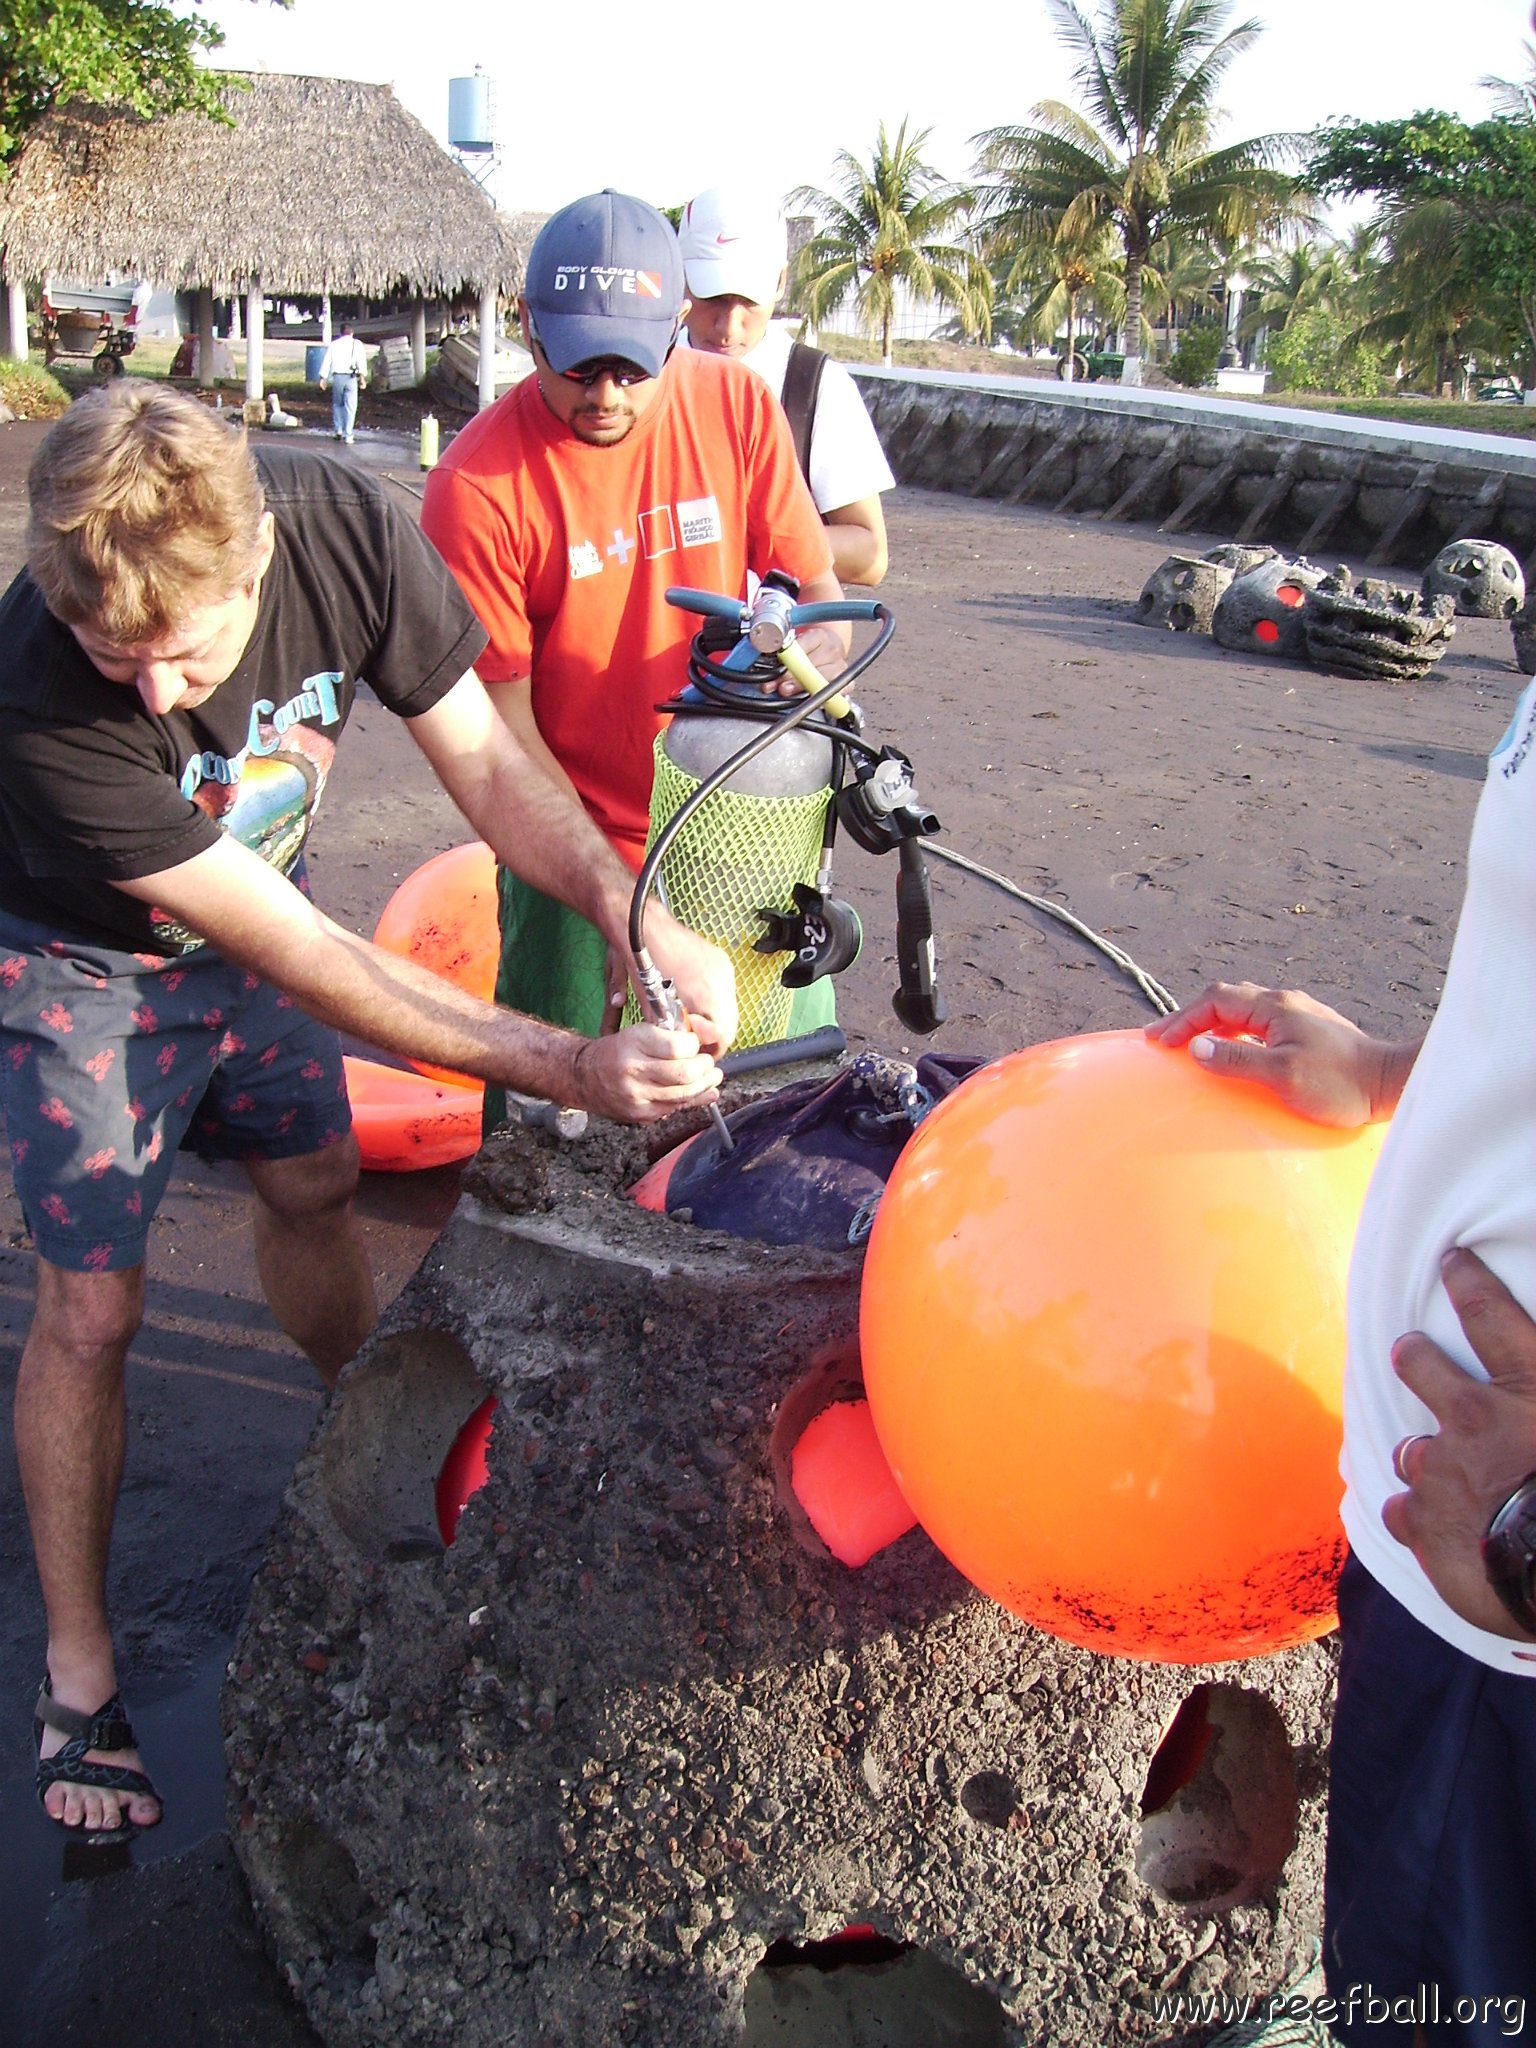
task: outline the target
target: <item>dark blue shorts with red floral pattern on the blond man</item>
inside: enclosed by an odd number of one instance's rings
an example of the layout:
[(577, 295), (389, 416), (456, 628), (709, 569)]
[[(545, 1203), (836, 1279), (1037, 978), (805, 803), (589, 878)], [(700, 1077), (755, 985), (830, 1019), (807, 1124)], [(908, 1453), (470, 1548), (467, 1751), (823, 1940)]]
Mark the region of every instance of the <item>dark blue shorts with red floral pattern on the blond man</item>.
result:
[(352, 1126), (336, 1032), (270, 981), (4, 913), (0, 1108), (33, 1241), (70, 1272), (141, 1264), (178, 1147), (297, 1159)]

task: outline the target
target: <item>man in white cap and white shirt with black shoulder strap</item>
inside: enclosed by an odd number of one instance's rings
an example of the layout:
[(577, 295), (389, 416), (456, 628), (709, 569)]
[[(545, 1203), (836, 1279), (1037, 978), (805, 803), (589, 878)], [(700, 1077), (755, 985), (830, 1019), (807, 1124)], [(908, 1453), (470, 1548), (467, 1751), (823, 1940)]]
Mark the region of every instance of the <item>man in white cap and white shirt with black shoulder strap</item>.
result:
[(879, 584), (887, 569), (881, 492), (895, 477), (842, 362), (774, 326), (788, 264), (782, 213), (772, 201), (713, 186), (684, 207), (678, 242), (690, 346), (745, 362), (780, 399), (838, 575)]

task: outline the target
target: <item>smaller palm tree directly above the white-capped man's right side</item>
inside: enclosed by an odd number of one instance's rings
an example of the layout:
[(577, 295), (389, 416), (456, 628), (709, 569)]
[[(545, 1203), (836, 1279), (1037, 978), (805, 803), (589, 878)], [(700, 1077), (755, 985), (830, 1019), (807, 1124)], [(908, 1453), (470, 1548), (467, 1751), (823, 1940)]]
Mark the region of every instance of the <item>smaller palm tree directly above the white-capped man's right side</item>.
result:
[(922, 129), (907, 139), (903, 121), (887, 137), (881, 123), (868, 164), (838, 152), (836, 193), (803, 184), (791, 195), (791, 205), (819, 223), (795, 262), (791, 305), (817, 326), (852, 299), (864, 332), (879, 336), (887, 365), (899, 285), (952, 307), (967, 332), (989, 334), (987, 266), (965, 244), (944, 240), (965, 219), (971, 195), (924, 164), (930, 133)]

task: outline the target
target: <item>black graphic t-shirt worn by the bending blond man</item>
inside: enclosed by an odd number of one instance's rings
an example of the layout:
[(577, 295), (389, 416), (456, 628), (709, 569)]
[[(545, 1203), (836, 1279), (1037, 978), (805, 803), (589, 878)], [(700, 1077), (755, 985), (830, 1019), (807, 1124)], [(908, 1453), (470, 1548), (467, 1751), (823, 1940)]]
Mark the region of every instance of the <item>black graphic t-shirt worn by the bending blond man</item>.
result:
[(289, 874), (356, 684), (430, 711), (485, 645), (432, 545), (332, 457), (258, 449), (276, 549), (236, 672), (154, 717), (90, 666), (25, 571), (0, 598), (0, 903), (61, 938), (176, 954), (201, 940), (113, 889), (231, 831)]

